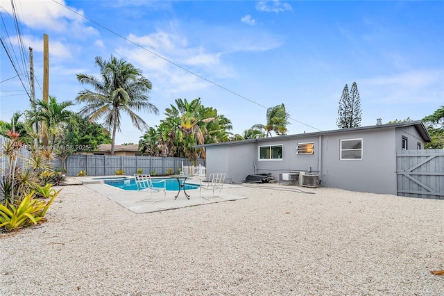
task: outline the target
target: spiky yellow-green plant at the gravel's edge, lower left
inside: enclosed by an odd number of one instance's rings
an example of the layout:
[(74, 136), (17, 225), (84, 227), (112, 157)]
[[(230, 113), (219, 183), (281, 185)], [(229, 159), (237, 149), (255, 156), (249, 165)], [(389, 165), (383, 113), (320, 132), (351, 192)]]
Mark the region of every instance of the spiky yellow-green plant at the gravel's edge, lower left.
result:
[(44, 215), (59, 192), (60, 190), (53, 192), (48, 202), (35, 199), (34, 192), (30, 192), (18, 205), (12, 202), (6, 202), (5, 205), (0, 204), (0, 229), (13, 231), (44, 222)]

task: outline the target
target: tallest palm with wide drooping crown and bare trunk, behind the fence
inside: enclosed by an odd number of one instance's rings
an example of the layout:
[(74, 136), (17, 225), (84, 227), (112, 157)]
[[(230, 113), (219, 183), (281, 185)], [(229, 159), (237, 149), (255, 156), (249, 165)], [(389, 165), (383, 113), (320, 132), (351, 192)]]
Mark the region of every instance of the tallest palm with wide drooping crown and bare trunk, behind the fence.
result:
[(88, 74), (77, 74), (77, 80), (87, 84), (93, 90), (82, 90), (76, 101), (87, 105), (80, 110), (80, 115), (87, 115), (90, 121), (103, 118), (105, 126), (112, 130), (111, 155), (114, 155), (116, 132), (121, 131), (121, 113), (126, 113), (133, 125), (142, 131), (148, 125), (133, 110), (146, 110), (157, 115), (159, 110), (148, 101), (151, 81), (142, 76), (137, 69), (125, 60), (111, 56), (109, 61), (96, 57), (100, 68), (100, 79)]

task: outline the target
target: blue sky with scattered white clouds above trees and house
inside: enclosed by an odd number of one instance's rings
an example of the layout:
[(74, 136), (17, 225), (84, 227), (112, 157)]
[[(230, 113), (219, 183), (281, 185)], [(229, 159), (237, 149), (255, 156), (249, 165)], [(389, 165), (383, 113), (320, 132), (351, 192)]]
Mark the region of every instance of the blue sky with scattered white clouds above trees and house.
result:
[[(94, 58), (114, 55), (153, 83), (150, 100), (160, 115), (139, 113), (150, 126), (175, 99), (200, 97), (232, 121), (233, 133), (264, 124), (266, 108), (282, 103), (289, 134), (327, 131), (336, 129), (342, 90), (354, 81), (361, 126), (379, 117), (421, 120), (444, 105), (444, 1), (14, 3), (24, 57), (10, 0), (0, 0), (1, 40), (27, 89), (33, 47), (37, 99), (46, 33), (49, 94), (74, 100), (84, 88), (76, 74), (98, 75)], [(29, 98), (5, 49), (0, 53), (0, 118), (10, 120), (29, 108)], [(143, 133), (123, 118), (116, 143), (138, 142)]]

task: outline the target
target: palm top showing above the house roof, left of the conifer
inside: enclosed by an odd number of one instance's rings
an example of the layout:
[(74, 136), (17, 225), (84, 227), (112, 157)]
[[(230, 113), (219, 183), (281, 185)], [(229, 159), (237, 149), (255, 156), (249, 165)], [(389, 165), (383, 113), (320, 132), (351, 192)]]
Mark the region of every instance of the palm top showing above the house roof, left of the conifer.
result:
[(270, 107), (266, 110), (266, 124), (255, 124), (251, 129), (264, 129), (266, 137), (271, 136), (271, 131), (276, 135), (285, 135), (290, 115), (285, 111), (284, 104)]

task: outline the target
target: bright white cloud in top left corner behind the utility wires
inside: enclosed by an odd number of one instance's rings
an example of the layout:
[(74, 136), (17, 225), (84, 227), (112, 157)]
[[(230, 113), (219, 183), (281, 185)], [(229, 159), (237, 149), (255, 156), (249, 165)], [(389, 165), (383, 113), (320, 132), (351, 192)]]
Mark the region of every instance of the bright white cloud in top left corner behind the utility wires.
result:
[[(60, 4), (51, 0), (15, 0), (14, 3), (20, 22), (30, 28), (44, 29), (49, 33), (70, 33), (78, 37), (98, 33), (91, 26), (85, 26), (83, 10), (65, 8), (64, 0), (58, 0)], [(13, 15), (11, 1), (0, 0), (0, 5)]]

